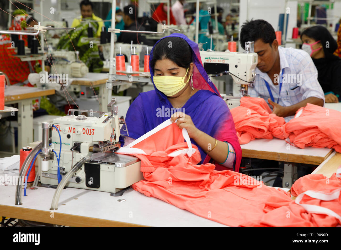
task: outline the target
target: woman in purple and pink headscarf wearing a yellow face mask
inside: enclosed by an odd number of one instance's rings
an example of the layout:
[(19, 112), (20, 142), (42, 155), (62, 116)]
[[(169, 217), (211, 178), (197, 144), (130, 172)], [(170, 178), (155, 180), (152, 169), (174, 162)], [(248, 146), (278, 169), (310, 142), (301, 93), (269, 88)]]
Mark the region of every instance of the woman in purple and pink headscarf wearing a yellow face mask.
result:
[[(229, 109), (205, 72), (198, 45), (183, 34), (160, 39), (150, 53), (150, 73), (155, 87), (129, 107), (127, 144), (167, 119), (185, 128), (202, 157), (216, 170), (239, 171), (241, 149)], [(121, 134), (125, 134), (122, 128)], [(162, 138), (160, 138), (162, 139)]]

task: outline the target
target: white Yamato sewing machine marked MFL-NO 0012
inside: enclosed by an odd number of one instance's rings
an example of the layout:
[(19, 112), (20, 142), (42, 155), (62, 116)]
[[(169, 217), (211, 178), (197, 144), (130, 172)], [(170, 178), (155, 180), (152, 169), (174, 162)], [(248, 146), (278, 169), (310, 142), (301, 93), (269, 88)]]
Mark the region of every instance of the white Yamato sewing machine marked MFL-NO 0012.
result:
[(240, 96), (248, 95), (248, 87), (255, 80), (257, 66), (257, 53), (254, 53), (254, 42), (245, 43), (245, 53), (220, 51), (200, 51), (201, 61), (209, 76), (222, 76), (231, 74), (233, 96), (226, 96), (225, 101), (229, 107), (239, 106)]

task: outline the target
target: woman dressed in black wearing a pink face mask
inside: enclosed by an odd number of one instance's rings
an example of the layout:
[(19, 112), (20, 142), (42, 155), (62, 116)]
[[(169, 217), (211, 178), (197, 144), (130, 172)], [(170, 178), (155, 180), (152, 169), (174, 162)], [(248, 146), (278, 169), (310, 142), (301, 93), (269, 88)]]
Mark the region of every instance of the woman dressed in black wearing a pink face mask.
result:
[(341, 101), (341, 59), (333, 55), (337, 43), (323, 26), (313, 26), (301, 34), (302, 50), (312, 58), (318, 71), (326, 102)]

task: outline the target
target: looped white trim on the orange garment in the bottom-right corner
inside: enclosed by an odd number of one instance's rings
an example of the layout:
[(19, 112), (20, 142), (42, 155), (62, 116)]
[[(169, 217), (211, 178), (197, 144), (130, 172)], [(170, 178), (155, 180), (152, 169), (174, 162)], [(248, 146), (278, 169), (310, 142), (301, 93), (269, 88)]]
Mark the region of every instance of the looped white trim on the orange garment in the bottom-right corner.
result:
[(323, 200), (323, 201), (331, 201), (331, 200), (338, 199), (340, 196), (340, 190), (341, 190), (341, 188), (336, 189), (335, 191), (333, 191), (330, 194), (323, 194), (323, 193), (315, 192), (312, 190), (308, 190), (308, 191), (305, 191), (304, 193), (300, 194), (299, 196), (297, 196), (297, 198), (295, 199), (295, 203), (302, 206), (307, 212), (314, 213), (314, 214), (330, 215), (330, 216), (333, 216), (333, 217), (335, 217), (341, 221), (340, 215), (338, 215), (337, 213), (335, 213), (334, 211), (332, 211), (330, 209), (327, 209), (326, 207), (309, 205), (309, 204), (300, 204), (300, 201), (302, 200), (304, 195), (308, 195), (311, 198)]

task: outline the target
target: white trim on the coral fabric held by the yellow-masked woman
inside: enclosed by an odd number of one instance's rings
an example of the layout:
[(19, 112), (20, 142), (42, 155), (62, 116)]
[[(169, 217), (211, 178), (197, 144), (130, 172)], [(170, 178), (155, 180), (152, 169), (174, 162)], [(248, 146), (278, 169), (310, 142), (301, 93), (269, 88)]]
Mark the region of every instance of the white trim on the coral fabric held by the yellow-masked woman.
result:
[[(177, 120), (175, 120), (175, 122), (176, 121)], [(144, 139), (147, 139), (149, 136), (155, 134), (156, 132), (166, 128), (167, 126), (169, 126), (171, 124), (172, 124), (172, 122), (170, 121), (170, 119), (162, 122), (160, 125), (158, 125), (154, 129), (150, 130), (149, 132), (145, 133), (141, 137), (137, 138), (136, 140), (134, 140), (129, 145), (127, 145), (125, 147), (122, 147), (122, 148), (119, 148), (119, 150), (117, 150), (117, 152), (118, 153), (130, 153), (130, 154), (133, 154), (133, 153), (146, 154), (142, 149), (132, 148), (132, 147), (134, 145), (138, 144), (139, 142), (143, 141)], [(178, 151), (172, 152), (168, 156), (174, 157), (174, 156), (177, 156), (179, 154), (187, 153), (187, 155), (189, 157), (191, 157), (192, 154), (195, 152), (195, 149), (192, 148), (191, 139), (190, 139), (186, 129), (182, 129), (182, 136), (185, 139), (185, 141), (187, 142), (188, 149), (182, 149), (182, 150), (178, 150)]]

